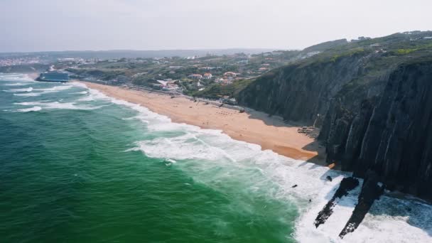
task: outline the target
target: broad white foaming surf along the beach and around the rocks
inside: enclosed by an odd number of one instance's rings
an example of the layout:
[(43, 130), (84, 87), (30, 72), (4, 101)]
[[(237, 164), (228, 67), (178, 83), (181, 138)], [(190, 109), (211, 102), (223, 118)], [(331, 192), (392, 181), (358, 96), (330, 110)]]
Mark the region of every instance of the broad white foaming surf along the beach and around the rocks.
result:
[[(108, 98), (97, 90), (90, 89), (90, 92)], [(293, 235), (298, 242), (432, 242), (432, 206), (388, 195), (374, 202), (355, 232), (340, 239), (338, 234), (354, 210), (362, 180), (355, 190), (339, 200), (333, 215), (317, 229), (313, 222), (318, 212), (333, 196), (340, 180), (351, 173), (332, 171), (269, 150), (261, 151), (260, 146), (236, 141), (221, 131), (176, 124), (138, 104), (114, 98), (111, 101), (139, 112), (128, 119), (148, 123), (148, 131), (169, 134), (137, 141), (127, 151), (142, 151), (146, 156), (163, 158), (171, 162), (167, 166), (175, 161), (175, 166), (210, 187), (236, 180), (246, 192), (259, 191), (270, 198), (294, 202), (300, 214)], [(328, 175), (333, 181), (325, 179)], [(292, 185), (298, 186), (291, 188)]]

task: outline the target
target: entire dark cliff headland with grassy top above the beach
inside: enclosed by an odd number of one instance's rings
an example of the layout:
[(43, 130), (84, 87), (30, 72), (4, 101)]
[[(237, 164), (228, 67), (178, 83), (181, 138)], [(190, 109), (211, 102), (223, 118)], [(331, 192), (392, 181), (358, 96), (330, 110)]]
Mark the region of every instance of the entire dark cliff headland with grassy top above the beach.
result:
[(397, 33), (325, 50), (254, 80), (240, 104), (320, 127), (328, 163), (432, 199), (432, 36)]

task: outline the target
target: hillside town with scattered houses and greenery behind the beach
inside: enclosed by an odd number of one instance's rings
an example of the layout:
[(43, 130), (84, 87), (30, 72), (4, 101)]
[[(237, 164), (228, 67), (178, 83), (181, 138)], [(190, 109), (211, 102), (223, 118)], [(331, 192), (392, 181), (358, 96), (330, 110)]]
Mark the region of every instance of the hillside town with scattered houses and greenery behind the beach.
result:
[(223, 90), (235, 89), (271, 69), (313, 54), (300, 50), (274, 50), (163, 58), (122, 58), (121, 54), (117, 58), (89, 58), (77, 53), (61, 56), (21, 53), (0, 55), (0, 72), (43, 72), (43, 69), (52, 67), (68, 72), (75, 80), (235, 102), (232, 92)]

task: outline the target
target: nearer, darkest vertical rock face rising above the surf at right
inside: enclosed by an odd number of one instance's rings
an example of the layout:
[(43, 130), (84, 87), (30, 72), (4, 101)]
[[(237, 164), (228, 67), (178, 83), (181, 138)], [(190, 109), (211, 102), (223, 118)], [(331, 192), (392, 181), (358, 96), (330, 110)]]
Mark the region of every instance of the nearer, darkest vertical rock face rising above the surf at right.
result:
[(387, 188), (432, 198), (432, 61), (399, 65), (357, 112), (333, 105), (320, 134), (328, 161), (360, 177), (372, 168)]

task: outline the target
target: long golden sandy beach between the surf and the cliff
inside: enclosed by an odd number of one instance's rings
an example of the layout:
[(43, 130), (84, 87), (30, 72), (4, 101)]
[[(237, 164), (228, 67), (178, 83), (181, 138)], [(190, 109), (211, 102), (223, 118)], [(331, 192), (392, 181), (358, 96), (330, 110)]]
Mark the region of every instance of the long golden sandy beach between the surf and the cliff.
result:
[(259, 144), (263, 150), (271, 149), (290, 158), (326, 165), (324, 148), (315, 139), (298, 133), (298, 126), (289, 126), (278, 117), (256, 111), (240, 113), (234, 109), (193, 102), (185, 97), (171, 98), (156, 92), (82, 83), (110, 97), (141, 104), (152, 112), (170, 117), (174, 122), (203, 129), (219, 129), (232, 139)]

